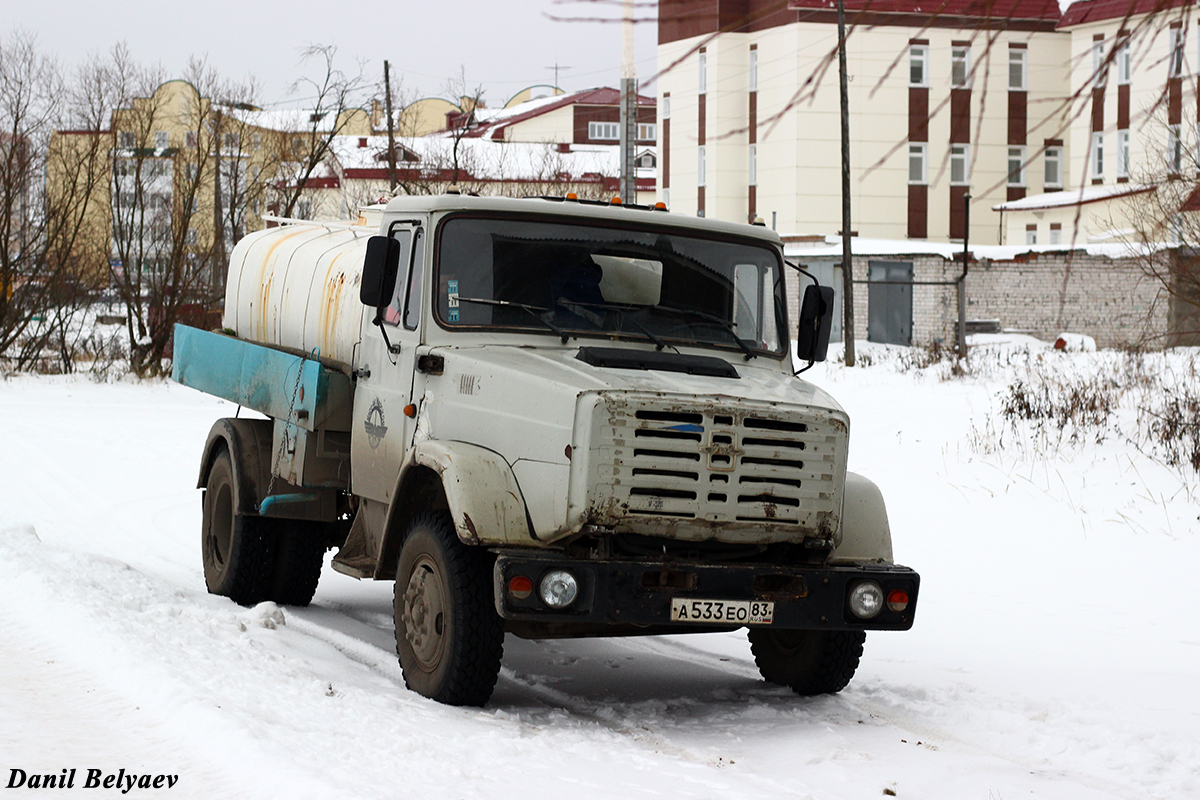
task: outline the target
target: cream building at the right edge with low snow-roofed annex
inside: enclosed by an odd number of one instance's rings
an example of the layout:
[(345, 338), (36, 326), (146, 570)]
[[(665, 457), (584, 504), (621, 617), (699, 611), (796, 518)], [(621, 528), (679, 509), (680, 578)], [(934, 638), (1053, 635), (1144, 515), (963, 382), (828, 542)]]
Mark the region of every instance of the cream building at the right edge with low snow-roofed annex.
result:
[(1156, 184), (1192, 179), (1200, 166), (1193, 11), (1182, 0), (1076, 0), (1063, 12), (1063, 82), (1076, 113), (1061, 191), (998, 204), (1007, 242), (1171, 239), (1140, 217), (1158, 210)]

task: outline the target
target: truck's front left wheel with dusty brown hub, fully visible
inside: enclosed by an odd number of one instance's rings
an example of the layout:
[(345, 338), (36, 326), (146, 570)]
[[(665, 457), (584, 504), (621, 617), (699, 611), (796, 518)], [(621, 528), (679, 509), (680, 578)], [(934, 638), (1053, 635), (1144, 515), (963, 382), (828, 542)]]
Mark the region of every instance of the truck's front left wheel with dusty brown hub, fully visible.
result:
[(496, 688), (504, 625), (493, 557), (458, 541), (450, 515), (418, 515), (396, 569), (396, 652), (404, 685), (438, 703), (484, 705)]

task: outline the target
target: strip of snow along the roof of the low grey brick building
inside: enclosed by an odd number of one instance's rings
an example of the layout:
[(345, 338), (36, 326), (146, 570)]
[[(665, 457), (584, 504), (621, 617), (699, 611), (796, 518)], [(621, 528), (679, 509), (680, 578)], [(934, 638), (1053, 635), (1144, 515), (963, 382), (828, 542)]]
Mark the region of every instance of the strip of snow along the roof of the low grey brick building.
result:
[[(821, 236), (815, 240), (797, 241), (784, 236), (784, 255), (800, 260), (838, 260), (841, 258), (841, 236)], [(954, 242), (917, 241), (911, 239), (863, 239), (850, 240), (853, 255), (941, 255), (948, 261), (962, 260), (962, 245)], [(968, 245), (973, 260), (986, 258), (992, 261), (1012, 261), (1031, 253), (1086, 252), (1088, 255), (1109, 258), (1133, 258), (1171, 247), (1166, 243), (1136, 243), (1128, 241), (1076, 242), (1066, 245)]]

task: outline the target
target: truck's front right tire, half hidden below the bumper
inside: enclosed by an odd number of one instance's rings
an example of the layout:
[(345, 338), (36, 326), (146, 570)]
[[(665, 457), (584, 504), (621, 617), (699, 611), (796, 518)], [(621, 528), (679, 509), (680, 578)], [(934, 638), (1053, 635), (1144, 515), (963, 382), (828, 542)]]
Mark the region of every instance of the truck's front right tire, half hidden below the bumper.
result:
[(797, 694), (833, 694), (858, 669), (863, 631), (770, 631), (750, 628), (750, 650), (762, 676)]

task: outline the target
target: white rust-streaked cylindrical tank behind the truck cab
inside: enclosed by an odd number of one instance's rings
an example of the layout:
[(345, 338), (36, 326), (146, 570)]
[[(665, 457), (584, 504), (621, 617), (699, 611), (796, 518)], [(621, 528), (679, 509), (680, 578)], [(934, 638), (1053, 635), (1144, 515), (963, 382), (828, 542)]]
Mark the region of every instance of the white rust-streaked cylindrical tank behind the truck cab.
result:
[(312, 223), (250, 234), (229, 257), (224, 326), (242, 339), (349, 365), (362, 325), (362, 258), (374, 233)]

